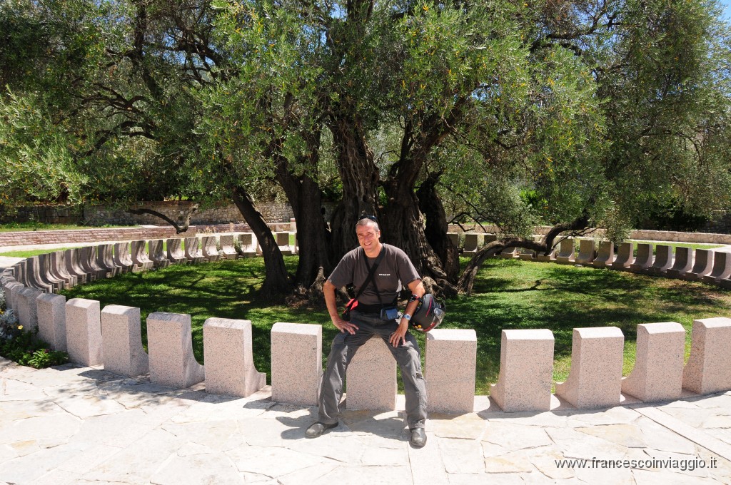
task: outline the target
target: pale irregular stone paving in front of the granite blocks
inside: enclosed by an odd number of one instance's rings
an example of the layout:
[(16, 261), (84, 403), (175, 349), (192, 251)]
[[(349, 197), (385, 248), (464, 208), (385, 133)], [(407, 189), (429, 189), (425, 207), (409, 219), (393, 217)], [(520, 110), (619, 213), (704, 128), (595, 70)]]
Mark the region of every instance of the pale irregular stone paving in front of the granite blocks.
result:
[(731, 483), (731, 392), (546, 413), (475, 402), (478, 413), (430, 416), (421, 449), (403, 411), (346, 411), (308, 440), (314, 408), (272, 402), (269, 388), (235, 399), (0, 359), (0, 483)]

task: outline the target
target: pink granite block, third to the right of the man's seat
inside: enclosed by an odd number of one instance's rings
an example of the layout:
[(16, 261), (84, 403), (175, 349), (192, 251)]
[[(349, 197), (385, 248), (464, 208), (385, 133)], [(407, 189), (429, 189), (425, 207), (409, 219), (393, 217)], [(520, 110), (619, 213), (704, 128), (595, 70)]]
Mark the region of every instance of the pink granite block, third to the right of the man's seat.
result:
[(571, 371), (556, 383), (556, 394), (575, 408), (608, 408), (619, 404), (622, 389), (624, 335), (616, 326), (574, 329)]

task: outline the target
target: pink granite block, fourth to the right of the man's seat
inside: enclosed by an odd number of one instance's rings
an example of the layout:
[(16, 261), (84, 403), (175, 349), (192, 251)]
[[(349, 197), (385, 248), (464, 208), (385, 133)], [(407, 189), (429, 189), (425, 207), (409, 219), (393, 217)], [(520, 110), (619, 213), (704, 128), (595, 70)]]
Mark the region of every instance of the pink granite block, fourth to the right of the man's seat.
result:
[(622, 392), (644, 402), (681, 397), (685, 329), (674, 321), (637, 325), (635, 368), (622, 379)]

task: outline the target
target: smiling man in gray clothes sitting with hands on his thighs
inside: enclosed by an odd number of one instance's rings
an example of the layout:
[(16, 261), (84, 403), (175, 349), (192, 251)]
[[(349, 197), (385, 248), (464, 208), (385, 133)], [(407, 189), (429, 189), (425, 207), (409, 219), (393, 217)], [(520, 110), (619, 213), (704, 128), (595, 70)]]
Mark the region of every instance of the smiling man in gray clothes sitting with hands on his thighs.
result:
[[(308, 438), (317, 438), (326, 429), (338, 425), (339, 404), (346, 368), (360, 345), (378, 335), (401, 367), (406, 394), (406, 419), (409, 422), (412, 446), (426, 444), (426, 384), (421, 370), (419, 345), (409, 330), (409, 319), (418, 301), (412, 297), (404, 315), (398, 318), (397, 297), (401, 283), (406, 284), (415, 297), (423, 297), (424, 285), (414, 265), (404, 251), (382, 244), (381, 232), (374, 216), (361, 218), (355, 224), (360, 248), (346, 253), (327, 278), (323, 291), (325, 304), (333, 325), (340, 333), (333, 340), (327, 370), (322, 375), (319, 395), (319, 417), (307, 429)], [(377, 267), (374, 268), (374, 265)], [(368, 274), (373, 276), (368, 281)], [(364, 286), (364, 283), (368, 283)], [(336, 289), (352, 284), (357, 291), (357, 306), (350, 312), (349, 321), (338, 313)]]

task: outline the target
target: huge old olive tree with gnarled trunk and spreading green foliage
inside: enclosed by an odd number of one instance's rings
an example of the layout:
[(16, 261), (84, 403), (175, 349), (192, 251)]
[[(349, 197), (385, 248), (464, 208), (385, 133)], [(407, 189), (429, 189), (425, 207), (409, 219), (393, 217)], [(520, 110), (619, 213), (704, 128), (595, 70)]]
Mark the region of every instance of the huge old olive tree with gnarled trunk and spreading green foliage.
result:
[[(12, 40), (0, 108), (15, 120), (0, 156), (23, 165), (7, 170), (18, 184), (45, 157), (58, 183), (28, 177), (40, 198), (58, 185), (126, 205), (232, 199), (264, 242), (272, 293), (322, 283), (357, 244), (361, 213), (451, 294), (506, 245), (545, 252), (591, 226), (621, 236), (650, 206), (729, 205), (730, 37), (714, 1), (44, 0), (0, 12)], [(292, 280), (252, 203), (275, 184), (298, 220)], [(329, 230), (324, 196), (338, 198)], [(452, 217), (501, 228), (463, 272)], [(539, 242), (537, 223), (553, 225)]]

